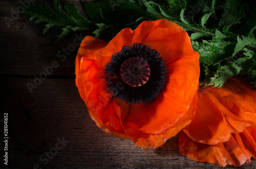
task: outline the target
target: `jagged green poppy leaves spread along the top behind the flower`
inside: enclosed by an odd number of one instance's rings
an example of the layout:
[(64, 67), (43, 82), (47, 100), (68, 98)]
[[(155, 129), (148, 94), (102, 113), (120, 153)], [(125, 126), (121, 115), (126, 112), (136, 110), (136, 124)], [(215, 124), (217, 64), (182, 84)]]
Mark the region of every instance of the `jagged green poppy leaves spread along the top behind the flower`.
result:
[(86, 31), (103, 40), (123, 28), (135, 29), (143, 20), (167, 19), (180, 25), (200, 54), (201, 85), (222, 87), (233, 76), (256, 81), (256, 1), (247, 0), (101, 0), (84, 2), (88, 17), (72, 3), (54, 1), (54, 10), (35, 2), (25, 13), (45, 23), (43, 35), (58, 28), (62, 38), (73, 31)]

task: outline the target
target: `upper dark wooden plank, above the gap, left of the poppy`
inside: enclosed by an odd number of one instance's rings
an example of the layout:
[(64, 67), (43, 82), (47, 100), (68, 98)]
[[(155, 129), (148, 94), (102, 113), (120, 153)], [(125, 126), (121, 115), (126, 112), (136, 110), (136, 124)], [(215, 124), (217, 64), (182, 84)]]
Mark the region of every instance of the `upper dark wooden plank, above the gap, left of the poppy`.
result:
[[(81, 9), (79, 2), (74, 4)], [(43, 67), (50, 66), (55, 60), (59, 66), (54, 68), (49, 76), (74, 77), (75, 57), (79, 44), (86, 34), (73, 33), (50, 46), (55, 34), (50, 31), (45, 37), (41, 37), (41, 25), (32, 27), (32, 22), (25, 14), (19, 14), (19, 17), (12, 15), (13, 11), (17, 12), (18, 5), (19, 1), (0, 2), (0, 75), (33, 77), (45, 71)], [(5, 17), (13, 18), (13, 21), (7, 21), (7, 24)]]

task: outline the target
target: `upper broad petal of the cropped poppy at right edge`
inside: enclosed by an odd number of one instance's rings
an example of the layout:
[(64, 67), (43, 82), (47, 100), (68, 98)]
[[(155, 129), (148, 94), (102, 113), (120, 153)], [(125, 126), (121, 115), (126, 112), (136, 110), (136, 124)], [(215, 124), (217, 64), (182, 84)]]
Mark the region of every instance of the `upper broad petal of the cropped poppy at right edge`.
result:
[(183, 129), (197, 142), (224, 142), (230, 133), (256, 125), (256, 90), (243, 79), (230, 78), (222, 88), (199, 87), (197, 107), (194, 119)]

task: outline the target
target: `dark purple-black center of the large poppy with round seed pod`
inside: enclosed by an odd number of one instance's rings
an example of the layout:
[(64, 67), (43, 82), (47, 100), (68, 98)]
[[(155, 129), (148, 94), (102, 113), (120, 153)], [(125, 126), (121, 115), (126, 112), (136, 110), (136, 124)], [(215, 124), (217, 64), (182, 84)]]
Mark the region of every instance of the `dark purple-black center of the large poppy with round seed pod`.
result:
[(106, 85), (127, 104), (152, 102), (162, 90), (165, 69), (160, 54), (150, 46), (123, 46), (106, 65)]

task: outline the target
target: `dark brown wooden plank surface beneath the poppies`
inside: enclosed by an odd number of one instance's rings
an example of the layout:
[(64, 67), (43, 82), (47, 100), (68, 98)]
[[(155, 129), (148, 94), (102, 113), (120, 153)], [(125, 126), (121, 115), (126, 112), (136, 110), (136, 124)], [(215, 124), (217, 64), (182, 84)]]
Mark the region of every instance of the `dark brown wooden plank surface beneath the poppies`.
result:
[[(80, 2), (73, 2), (80, 6)], [(62, 48), (73, 43), (75, 34), (50, 46), (53, 34), (41, 37), (41, 26), (32, 27), (23, 14), (7, 27), (4, 17), (11, 18), (12, 9), (16, 10), (18, 4), (0, 2), (0, 119), (8, 113), (9, 168), (222, 168), (179, 154), (178, 136), (157, 149), (143, 150), (131, 140), (101, 131), (75, 86), (78, 46), (66, 59), (57, 57)], [(44, 71), (42, 66), (49, 66), (53, 60), (59, 66), (31, 92), (27, 84), (33, 84), (34, 76)], [(3, 168), (2, 120), (0, 123)], [(63, 147), (59, 140), (65, 140)], [(54, 155), (46, 157), (49, 151)], [(256, 161), (239, 168), (256, 168)]]

